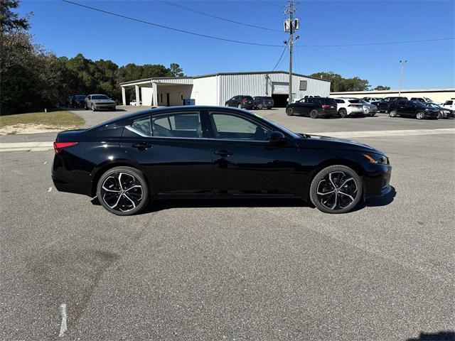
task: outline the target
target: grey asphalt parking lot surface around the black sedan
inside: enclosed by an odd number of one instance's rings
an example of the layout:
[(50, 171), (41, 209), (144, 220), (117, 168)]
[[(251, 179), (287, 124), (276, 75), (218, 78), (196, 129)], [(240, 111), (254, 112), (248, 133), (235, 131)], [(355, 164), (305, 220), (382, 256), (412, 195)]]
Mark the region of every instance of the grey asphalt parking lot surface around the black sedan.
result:
[[(126, 112), (80, 114), (92, 125)], [(53, 151), (1, 152), (0, 339), (410, 340), (454, 331), (455, 120), (259, 114), (297, 132), (375, 131), (355, 139), (387, 153), (395, 190), (344, 215), (300, 200), (182, 200), (117, 217), (53, 188)], [(62, 305), (68, 330), (58, 337)]]

